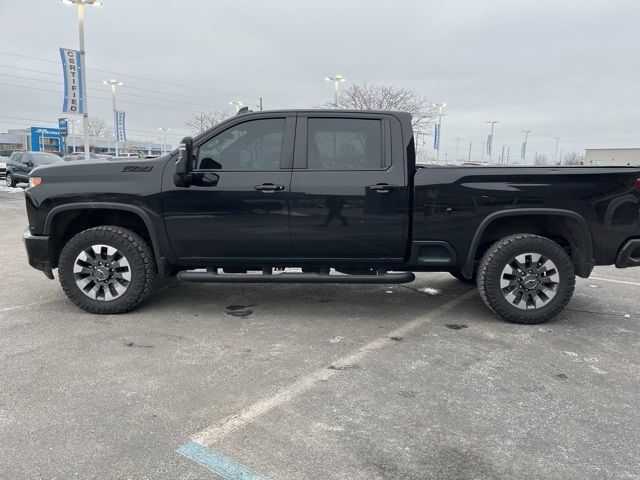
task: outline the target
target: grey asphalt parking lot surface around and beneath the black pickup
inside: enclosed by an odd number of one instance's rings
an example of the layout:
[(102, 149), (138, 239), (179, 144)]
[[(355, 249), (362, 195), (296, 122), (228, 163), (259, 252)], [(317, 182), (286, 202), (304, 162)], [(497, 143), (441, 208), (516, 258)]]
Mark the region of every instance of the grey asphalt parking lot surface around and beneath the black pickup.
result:
[(28, 266), (22, 193), (0, 221), (2, 479), (640, 478), (640, 269), (532, 326), (448, 274), (166, 281), (101, 316)]

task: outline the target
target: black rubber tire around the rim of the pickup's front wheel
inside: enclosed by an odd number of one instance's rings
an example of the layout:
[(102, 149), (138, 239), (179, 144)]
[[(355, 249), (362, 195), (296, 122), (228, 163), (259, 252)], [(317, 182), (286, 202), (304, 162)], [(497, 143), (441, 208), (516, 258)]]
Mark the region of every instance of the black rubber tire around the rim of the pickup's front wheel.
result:
[[(94, 244), (116, 248), (130, 265), (131, 280), (127, 290), (110, 301), (89, 298), (76, 284), (73, 272), (76, 257)], [(64, 293), (75, 305), (89, 313), (111, 315), (128, 312), (144, 301), (153, 288), (156, 268), (153, 252), (140, 235), (126, 228), (104, 225), (84, 230), (67, 242), (58, 260), (58, 275)]]

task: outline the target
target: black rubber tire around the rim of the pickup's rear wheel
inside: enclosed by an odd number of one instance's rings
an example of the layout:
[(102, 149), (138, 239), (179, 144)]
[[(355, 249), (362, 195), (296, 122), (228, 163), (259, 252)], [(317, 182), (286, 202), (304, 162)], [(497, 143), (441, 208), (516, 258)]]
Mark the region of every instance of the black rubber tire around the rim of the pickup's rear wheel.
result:
[[(560, 278), (555, 297), (546, 305), (531, 310), (515, 307), (505, 298), (500, 287), (503, 269), (524, 253), (538, 253), (551, 260)], [(493, 312), (512, 323), (542, 323), (558, 315), (571, 300), (575, 279), (574, 266), (567, 252), (556, 242), (532, 234), (510, 235), (494, 243), (478, 267), (478, 290), (482, 300)]]

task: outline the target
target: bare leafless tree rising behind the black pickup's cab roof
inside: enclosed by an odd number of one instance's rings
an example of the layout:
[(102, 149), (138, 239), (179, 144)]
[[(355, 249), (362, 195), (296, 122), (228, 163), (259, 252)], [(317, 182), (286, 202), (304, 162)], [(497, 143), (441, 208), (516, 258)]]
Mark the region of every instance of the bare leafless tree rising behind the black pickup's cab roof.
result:
[(429, 100), (415, 91), (396, 85), (352, 85), (340, 93), (338, 104), (328, 102), (323, 108), (345, 110), (395, 110), (409, 112), (414, 133), (431, 134), (431, 126), (438, 111)]

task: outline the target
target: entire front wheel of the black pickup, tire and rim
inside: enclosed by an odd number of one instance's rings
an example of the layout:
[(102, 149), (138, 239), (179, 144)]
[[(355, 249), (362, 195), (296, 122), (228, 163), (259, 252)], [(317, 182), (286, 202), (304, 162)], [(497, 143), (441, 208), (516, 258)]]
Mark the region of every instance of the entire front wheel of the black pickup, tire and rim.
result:
[(153, 253), (142, 237), (126, 228), (90, 228), (64, 246), (58, 274), (64, 293), (83, 310), (124, 313), (151, 292)]

